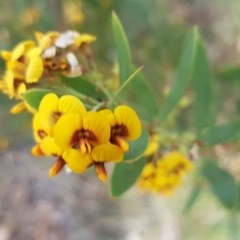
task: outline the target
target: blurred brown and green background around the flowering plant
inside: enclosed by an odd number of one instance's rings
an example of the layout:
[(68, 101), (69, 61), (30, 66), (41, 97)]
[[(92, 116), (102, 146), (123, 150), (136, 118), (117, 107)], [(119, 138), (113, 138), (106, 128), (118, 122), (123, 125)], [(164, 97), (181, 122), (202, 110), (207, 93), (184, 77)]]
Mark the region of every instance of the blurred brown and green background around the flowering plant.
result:
[[(144, 66), (156, 94), (172, 81), (184, 37), (197, 25), (214, 72), (219, 121), (239, 115), (237, 0), (0, 0), (0, 49), (34, 39), (35, 31), (90, 33), (97, 36), (93, 52), (99, 69), (111, 76), (116, 60), (113, 10), (124, 26), (134, 62)], [(1, 60), (1, 75), (4, 68)], [(14, 101), (0, 95), (0, 240), (240, 239), (239, 216), (225, 210), (207, 188), (191, 210), (186, 209), (191, 175), (171, 197), (132, 188), (119, 199), (111, 199), (108, 186), (91, 171), (49, 179), (53, 159), (31, 156), (31, 115), (10, 115), (12, 105)], [(225, 150), (216, 151), (239, 158)]]

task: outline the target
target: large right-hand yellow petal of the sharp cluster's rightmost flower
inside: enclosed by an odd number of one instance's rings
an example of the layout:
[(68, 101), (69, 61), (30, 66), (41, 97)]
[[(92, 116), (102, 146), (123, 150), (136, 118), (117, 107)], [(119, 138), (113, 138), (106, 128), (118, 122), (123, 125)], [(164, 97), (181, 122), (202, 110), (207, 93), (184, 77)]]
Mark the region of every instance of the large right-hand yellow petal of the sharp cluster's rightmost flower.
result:
[(126, 139), (136, 140), (140, 137), (142, 126), (137, 113), (130, 107), (121, 105), (115, 108), (114, 116), (118, 125), (127, 129)]

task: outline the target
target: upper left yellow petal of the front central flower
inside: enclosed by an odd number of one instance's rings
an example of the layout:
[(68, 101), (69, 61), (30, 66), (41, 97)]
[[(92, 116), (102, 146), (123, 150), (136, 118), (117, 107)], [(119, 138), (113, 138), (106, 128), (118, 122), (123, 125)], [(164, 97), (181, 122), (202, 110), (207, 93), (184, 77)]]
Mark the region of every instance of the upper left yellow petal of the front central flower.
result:
[(54, 128), (54, 141), (62, 149), (72, 147), (74, 134), (82, 129), (82, 117), (76, 113), (62, 116)]

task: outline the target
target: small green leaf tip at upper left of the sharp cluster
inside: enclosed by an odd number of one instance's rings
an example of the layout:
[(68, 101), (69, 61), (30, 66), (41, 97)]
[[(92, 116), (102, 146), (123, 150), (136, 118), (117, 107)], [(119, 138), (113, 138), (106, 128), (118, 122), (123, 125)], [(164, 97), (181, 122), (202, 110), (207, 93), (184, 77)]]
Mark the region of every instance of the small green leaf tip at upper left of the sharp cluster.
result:
[(42, 98), (52, 91), (47, 89), (31, 89), (24, 93), (23, 98), (29, 106), (38, 110)]

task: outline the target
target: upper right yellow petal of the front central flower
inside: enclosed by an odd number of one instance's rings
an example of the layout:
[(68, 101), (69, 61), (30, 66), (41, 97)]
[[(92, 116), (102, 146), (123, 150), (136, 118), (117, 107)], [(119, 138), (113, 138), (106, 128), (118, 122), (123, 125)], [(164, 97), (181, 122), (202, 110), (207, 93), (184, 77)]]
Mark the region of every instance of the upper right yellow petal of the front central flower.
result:
[(110, 125), (108, 121), (97, 112), (88, 112), (83, 117), (83, 129), (94, 134), (92, 141), (93, 146), (107, 143), (110, 139)]

